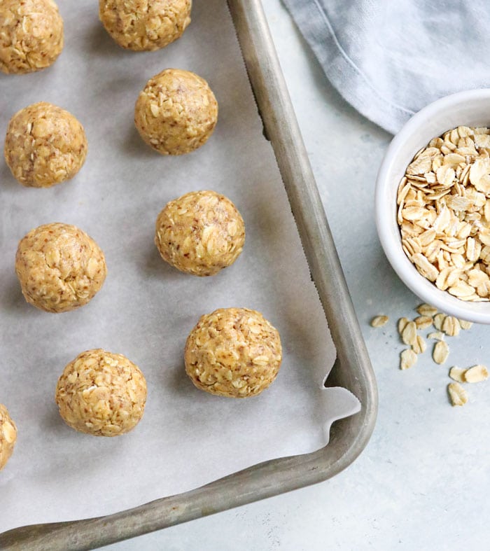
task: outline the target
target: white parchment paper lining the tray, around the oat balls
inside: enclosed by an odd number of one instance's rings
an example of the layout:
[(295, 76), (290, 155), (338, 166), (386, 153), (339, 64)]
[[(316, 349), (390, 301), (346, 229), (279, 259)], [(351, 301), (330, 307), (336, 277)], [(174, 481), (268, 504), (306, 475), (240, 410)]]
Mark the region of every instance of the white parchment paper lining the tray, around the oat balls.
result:
[[(225, 1), (195, 3), (183, 38), (144, 54), (117, 48), (97, 8), (80, 4), (60, 3), (66, 46), (55, 66), (0, 77), (2, 132), (15, 111), (43, 100), (76, 115), (89, 141), (80, 174), (50, 190), (21, 188), (0, 166), (0, 401), (19, 428), (0, 475), (0, 531), (115, 512), (311, 452), (328, 441), (333, 420), (359, 407), (345, 389), (321, 388), (335, 350)], [(208, 144), (179, 158), (151, 151), (132, 124), (139, 90), (167, 67), (207, 78), (220, 105)], [(168, 200), (209, 188), (237, 204), (247, 236), (235, 265), (201, 279), (163, 263), (153, 230)], [(109, 267), (99, 295), (67, 314), (27, 305), (13, 273), (18, 239), (52, 221), (92, 235)], [(248, 400), (208, 396), (183, 370), (183, 345), (199, 316), (229, 306), (260, 310), (283, 342), (276, 382)], [(146, 375), (145, 417), (121, 438), (75, 433), (57, 414), (57, 377), (94, 347), (125, 354)]]

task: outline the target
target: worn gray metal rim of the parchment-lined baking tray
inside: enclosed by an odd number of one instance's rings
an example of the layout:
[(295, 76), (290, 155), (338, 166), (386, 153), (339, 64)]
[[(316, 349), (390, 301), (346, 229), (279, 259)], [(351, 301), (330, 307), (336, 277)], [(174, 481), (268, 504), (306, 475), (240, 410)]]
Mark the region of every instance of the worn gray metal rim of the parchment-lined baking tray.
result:
[(204, 487), (114, 515), (13, 529), (0, 534), (2, 550), (90, 550), (315, 484), (348, 467), (370, 439), (377, 415), (374, 372), (262, 4), (260, 0), (227, 1), (265, 133), (274, 148), (311, 278), (337, 348), (327, 384), (349, 389), (359, 398), (361, 410), (335, 421), (330, 442), (317, 452), (260, 463)]

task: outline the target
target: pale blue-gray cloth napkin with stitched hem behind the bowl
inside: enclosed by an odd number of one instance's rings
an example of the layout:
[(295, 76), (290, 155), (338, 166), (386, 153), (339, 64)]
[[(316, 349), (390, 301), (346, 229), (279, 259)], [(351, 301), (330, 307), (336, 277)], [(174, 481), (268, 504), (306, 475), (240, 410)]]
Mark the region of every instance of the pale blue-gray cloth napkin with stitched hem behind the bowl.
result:
[(332, 85), (388, 132), (439, 97), (490, 87), (489, 0), (283, 2)]

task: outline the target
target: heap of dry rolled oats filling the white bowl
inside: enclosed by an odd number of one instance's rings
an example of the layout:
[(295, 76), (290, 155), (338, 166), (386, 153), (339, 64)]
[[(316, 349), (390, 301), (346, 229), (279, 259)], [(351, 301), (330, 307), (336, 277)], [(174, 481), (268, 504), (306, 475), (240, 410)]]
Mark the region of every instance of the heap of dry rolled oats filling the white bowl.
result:
[(449, 130), (416, 153), (397, 197), (402, 248), (416, 269), (475, 302), (490, 300), (489, 152), (489, 128)]

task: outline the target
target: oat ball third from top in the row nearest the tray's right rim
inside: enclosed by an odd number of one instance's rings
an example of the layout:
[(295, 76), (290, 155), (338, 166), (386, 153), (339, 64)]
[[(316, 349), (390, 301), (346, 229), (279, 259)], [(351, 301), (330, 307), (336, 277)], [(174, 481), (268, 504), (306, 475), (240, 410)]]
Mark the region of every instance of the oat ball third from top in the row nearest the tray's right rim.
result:
[(237, 207), (215, 191), (193, 191), (169, 202), (155, 224), (163, 260), (187, 274), (217, 274), (237, 260), (244, 242)]

